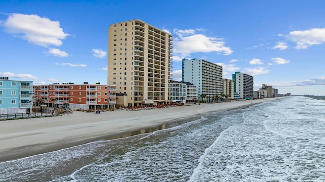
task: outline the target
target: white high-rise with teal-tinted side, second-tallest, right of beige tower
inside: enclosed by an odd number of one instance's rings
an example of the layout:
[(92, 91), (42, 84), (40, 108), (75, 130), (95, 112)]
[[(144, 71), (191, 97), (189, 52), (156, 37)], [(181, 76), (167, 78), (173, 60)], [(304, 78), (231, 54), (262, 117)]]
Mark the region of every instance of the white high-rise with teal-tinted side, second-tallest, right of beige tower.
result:
[(203, 59), (182, 60), (182, 81), (198, 86), (199, 101), (223, 93), (222, 66)]

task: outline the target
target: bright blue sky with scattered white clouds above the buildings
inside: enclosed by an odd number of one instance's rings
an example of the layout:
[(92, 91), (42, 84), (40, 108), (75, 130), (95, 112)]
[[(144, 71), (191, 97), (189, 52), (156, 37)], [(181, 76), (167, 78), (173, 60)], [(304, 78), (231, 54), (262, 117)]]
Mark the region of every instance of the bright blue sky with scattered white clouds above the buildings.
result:
[(1, 1), (0, 76), (107, 83), (108, 27), (140, 19), (173, 34), (183, 58), (254, 76), (280, 94), (325, 95), (323, 1)]

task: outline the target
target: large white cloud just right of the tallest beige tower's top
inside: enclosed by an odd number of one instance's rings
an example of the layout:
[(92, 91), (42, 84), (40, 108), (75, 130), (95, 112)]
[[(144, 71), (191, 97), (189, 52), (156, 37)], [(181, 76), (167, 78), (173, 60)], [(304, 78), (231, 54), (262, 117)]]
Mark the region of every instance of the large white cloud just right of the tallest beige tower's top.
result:
[(229, 47), (225, 47), (223, 38), (208, 37), (203, 34), (196, 34), (197, 31), (205, 31), (206, 29), (174, 29), (174, 55), (181, 55), (190, 57), (192, 53), (223, 53), (223, 55), (230, 55), (233, 51)]

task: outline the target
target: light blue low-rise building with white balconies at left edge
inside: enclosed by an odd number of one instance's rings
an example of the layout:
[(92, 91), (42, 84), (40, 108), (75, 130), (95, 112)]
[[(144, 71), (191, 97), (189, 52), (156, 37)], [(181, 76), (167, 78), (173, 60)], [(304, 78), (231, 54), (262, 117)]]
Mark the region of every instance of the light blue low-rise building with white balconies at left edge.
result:
[(32, 81), (0, 77), (0, 114), (30, 113)]

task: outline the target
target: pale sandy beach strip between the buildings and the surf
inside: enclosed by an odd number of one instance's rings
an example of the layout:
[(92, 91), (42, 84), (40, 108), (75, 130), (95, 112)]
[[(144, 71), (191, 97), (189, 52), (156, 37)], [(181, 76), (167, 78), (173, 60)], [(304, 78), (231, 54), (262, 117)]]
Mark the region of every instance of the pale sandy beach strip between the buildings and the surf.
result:
[(279, 98), (100, 114), (75, 111), (57, 117), (0, 121), (0, 162), (124, 137), (166, 123), (193, 121), (209, 112), (222, 112), (276, 99)]

